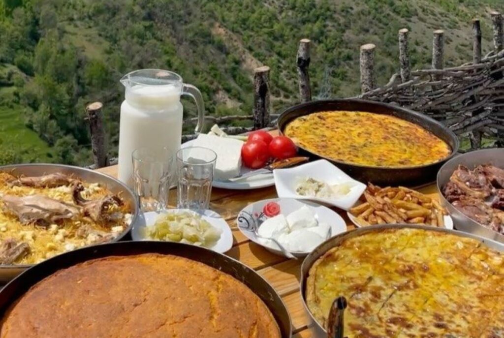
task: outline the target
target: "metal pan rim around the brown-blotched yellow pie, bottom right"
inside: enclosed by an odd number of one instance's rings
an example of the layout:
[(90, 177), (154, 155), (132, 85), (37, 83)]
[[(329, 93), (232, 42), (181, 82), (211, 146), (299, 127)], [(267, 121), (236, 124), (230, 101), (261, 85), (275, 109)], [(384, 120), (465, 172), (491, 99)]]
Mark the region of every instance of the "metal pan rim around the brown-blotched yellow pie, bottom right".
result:
[(473, 234), (461, 232), (461, 231), (456, 231), (456, 230), (450, 230), (450, 229), (445, 229), (445, 228), (435, 228), (431, 226), (425, 226), (425, 225), (411, 225), (411, 224), (394, 224), (394, 225), (373, 225), (371, 227), (365, 227), (365, 228), (358, 228), (355, 230), (347, 231), (343, 234), (337, 235), (321, 245), (319, 245), (317, 248), (315, 248), (308, 256), (303, 261), (303, 264), (301, 265), (301, 298), (304, 306), (304, 310), (306, 311), (309, 319), (308, 327), (312, 331), (312, 337), (313, 338), (327, 338), (327, 332), (322, 327), (322, 325), (313, 317), (311, 312), (308, 310), (308, 306), (306, 305), (306, 293), (305, 293), (305, 287), (306, 287), (306, 279), (308, 278), (308, 273), (310, 271), (311, 266), (313, 263), (319, 259), (319, 257), (323, 256), (328, 250), (332, 249), (333, 247), (339, 245), (343, 240), (348, 239), (348, 238), (353, 238), (357, 237), (360, 235), (363, 235), (367, 232), (373, 232), (376, 230), (380, 229), (402, 229), (402, 228), (413, 228), (413, 229), (425, 229), (425, 230), (430, 230), (430, 231), (437, 231), (437, 232), (445, 232), (449, 233), (452, 235), (457, 235), (461, 237), (469, 237), (476, 239), (478, 241), (481, 241), (484, 243), (486, 246), (488, 246), (491, 249), (495, 249), (501, 252), (504, 252), (504, 244), (498, 243), (496, 241), (492, 241), (480, 236), (476, 236)]

